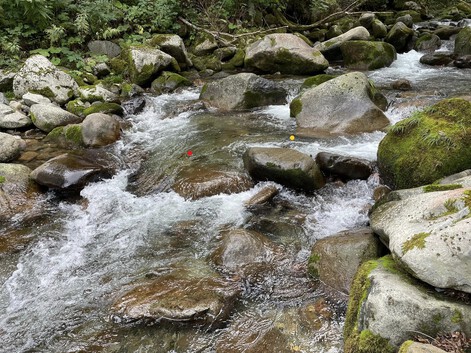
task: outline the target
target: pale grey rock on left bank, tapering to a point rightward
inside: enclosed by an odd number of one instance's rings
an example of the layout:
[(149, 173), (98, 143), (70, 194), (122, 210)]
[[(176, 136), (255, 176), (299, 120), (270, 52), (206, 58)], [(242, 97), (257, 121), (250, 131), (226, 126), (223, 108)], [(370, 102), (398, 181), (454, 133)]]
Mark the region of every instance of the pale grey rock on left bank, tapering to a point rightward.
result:
[(58, 126), (75, 124), (80, 117), (52, 104), (34, 104), (30, 110), (33, 124), (42, 131), (49, 132)]

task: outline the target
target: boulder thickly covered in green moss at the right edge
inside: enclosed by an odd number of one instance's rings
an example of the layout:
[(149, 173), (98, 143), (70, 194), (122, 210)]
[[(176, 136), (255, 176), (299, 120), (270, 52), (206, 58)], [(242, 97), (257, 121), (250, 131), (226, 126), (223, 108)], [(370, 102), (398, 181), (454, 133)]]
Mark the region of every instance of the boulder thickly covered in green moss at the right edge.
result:
[(378, 147), (378, 167), (396, 189), (430, 184), (471, 168), (471, 102), (445, 99), (392, 126)]

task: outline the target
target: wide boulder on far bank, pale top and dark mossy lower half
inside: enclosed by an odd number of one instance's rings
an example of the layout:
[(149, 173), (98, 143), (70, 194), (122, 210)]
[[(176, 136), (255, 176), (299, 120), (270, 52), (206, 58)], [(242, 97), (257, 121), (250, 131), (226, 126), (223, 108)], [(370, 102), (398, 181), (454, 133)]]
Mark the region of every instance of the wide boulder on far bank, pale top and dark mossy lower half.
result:
[(310, 75), (327, 69), (319, 50), (286, 33), (269, 34), (247, 48), (245, 67), (267, 73)]

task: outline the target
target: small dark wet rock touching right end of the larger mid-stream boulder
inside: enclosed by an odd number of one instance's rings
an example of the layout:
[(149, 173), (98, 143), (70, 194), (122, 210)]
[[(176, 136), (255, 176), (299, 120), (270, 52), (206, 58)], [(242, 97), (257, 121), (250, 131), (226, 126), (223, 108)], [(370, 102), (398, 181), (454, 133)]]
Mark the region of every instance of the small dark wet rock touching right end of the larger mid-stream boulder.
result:
[(324, 174), (336, 175), (344, 180), (366, 180), (373, 172), (370, 161), (329, 152), (318, 153), (316, 162)]

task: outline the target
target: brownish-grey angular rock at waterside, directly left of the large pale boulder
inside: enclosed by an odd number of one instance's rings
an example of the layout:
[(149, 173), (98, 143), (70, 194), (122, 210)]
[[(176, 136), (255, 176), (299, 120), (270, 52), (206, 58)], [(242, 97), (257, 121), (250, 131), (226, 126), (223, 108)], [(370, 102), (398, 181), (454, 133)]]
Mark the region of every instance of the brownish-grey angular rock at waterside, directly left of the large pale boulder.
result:
[(345, 294), (363, 262), (381, 255), (382, 246), (370, 228), (343, 231), (316, 241), (308, 272), (328, 286)]

